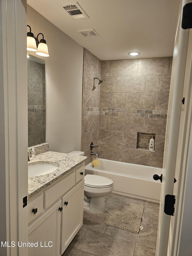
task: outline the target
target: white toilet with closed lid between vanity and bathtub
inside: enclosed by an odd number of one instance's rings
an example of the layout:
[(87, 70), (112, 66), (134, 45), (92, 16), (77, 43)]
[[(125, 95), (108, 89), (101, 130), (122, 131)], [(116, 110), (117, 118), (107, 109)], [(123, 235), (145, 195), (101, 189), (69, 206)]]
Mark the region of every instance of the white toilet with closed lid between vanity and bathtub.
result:
[[(84, 155), (82, 151), (72, 151), (68, 154)], [(83, 209), (90, 212), (106, 211), (106, 196), (113, 191), (113, 180), (104, 176), (87, 174), (84, 185)]]

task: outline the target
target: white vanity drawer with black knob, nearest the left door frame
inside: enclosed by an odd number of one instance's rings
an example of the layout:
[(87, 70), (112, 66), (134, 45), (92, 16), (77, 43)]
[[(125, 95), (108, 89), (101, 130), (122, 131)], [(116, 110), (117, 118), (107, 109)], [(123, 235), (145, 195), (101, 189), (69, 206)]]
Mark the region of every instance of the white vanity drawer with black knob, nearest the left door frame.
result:
[(28, 223), (35, 220), (41, 213), (43, 209), (43, 194), (40, 194), (38, 197), (35, 197), (33, 200), (29, 200), (28, 205)]

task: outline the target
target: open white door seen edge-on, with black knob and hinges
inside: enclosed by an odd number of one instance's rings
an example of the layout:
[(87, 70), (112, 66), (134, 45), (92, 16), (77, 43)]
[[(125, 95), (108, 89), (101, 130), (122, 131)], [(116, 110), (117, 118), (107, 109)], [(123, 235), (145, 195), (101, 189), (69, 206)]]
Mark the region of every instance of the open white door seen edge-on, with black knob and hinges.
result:
[[(170, 97), (167, 113), (167, 127), (165, 136), (163, 183), (161, 190), (161, 204), (159, 214), (156, 256), (167, 255), (170, 237), (170, 215), (164, 213), (165, 195), (173, 195), (174, 177), (177, 161), (177, 148), (179, 137), (179, 124), (184, 87), (185, 65), (187, 58), (187, 45), (189, 31), (181, 28), (183, 6), (190, 2), (181, 0), (179, 8), (178, 25), (173, 50), (173, 66), (170, 82)], [(177, 182), (180, 182), (180, 180)], [(179, 195), (176, 195), (177, 197)], [(168, 252), (169, 253), (169, 252)]]

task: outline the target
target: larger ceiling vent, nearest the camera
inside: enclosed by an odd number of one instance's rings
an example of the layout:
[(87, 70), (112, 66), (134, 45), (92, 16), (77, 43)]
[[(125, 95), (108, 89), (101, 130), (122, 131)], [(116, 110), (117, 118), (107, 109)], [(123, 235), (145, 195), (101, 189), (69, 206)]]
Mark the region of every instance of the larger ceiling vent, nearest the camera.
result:
[(87, 19), (88, 15), (83, 11), (81, 6), (77, 3), (70, 3), (65, 5), (59, 5), (64, 11), (66, 11), (71, 18), (76, 19)]

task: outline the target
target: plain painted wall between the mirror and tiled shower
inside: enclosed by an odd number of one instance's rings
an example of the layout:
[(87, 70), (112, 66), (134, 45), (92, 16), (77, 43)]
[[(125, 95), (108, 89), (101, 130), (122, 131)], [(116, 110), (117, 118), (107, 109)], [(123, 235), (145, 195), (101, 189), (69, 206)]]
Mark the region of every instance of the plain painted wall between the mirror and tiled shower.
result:
[(27, 25), (31, 26), (35, 37), (38, 33), (44, 34), (50, 55), (42, 58), (46, 60), (46, 142), (49, 142), (49, 150), (64, 153), (80, 150), (83, 47), (29, 5)]

